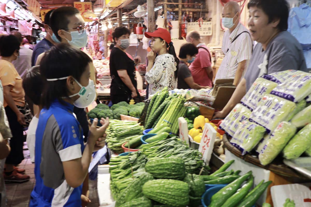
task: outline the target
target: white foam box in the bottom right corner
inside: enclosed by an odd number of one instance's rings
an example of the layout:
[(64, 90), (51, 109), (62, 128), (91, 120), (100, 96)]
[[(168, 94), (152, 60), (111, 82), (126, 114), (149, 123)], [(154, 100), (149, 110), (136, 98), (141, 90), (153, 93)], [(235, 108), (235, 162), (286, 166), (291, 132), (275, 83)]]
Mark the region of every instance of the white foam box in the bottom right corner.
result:
[(304, 202), (304, 199), (311, 199), (311, 183), (288, 184), (271, 187), (271, 196), (274, 207), (283, 207), (285, 200), (289, 198), (294, 200), (295, 206), (310, 207), (310, 202)]

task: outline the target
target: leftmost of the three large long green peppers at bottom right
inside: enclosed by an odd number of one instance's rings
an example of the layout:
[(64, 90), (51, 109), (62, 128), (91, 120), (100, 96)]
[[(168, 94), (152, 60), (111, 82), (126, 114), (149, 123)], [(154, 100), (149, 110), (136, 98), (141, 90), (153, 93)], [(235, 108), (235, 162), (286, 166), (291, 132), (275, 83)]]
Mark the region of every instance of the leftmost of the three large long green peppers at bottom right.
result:
[(242, 183), (251, 176), (252, 171), (242, 175), (238, 179), (234, 180), (233, 182), (229, 183), (227, 186), (223, 187), (215, 193), (211, 197), (211, 204), (209, 207), (220, 207), (223, 205), (226, 200), (228, 200), (242, 185)]

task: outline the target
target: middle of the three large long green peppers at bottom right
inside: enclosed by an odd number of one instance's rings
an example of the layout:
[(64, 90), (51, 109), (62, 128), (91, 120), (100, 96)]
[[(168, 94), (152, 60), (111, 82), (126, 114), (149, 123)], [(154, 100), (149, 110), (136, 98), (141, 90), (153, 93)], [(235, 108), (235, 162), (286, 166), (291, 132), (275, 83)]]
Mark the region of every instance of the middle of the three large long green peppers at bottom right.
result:
[(249, 189), (253, 186), (254, 176), (251, 175), (248, 181), (243, 185), (236, 193), (234, 193), (221, 207), (234, 207), (239, 204), (239, 202), (248, 193)]

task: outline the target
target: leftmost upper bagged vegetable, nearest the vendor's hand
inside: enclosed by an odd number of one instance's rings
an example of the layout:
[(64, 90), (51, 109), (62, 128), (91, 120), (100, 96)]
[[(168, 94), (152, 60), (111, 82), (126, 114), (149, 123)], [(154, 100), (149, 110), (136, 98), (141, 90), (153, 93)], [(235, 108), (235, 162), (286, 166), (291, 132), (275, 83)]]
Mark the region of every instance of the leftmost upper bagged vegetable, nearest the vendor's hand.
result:
[(239, 128), (239, 124), (244, 120), (248, 120), (251, 113), (252, 112), (247, 107), (242, 104), (237, 104), (221, 122), (219, 127), (233, 137), (234, 133)]

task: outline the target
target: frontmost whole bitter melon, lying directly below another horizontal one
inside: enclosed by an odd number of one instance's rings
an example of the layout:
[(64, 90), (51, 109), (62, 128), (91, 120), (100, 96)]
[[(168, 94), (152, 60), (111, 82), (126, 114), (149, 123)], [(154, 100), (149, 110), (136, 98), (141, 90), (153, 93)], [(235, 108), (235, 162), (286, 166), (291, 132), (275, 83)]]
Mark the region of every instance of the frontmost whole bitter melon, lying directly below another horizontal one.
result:
[(147, 198), (170, 207), (181, 207), (189, 204), (189, 185), (183, 181), (151, 180), (143, 185), (142, 192)]

